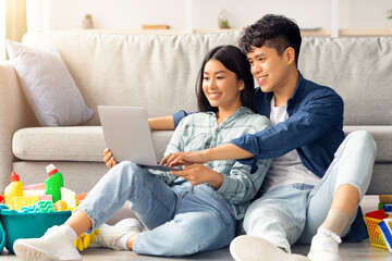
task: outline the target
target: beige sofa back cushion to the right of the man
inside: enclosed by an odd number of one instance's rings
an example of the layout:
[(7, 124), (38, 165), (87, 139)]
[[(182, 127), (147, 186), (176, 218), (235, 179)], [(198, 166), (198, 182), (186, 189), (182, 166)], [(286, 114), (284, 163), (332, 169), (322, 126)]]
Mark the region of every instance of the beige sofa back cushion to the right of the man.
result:
[(391, 61), (391, 37), (304, 37), (298, 67), (343, 98), (345, 125), (392, 125)]

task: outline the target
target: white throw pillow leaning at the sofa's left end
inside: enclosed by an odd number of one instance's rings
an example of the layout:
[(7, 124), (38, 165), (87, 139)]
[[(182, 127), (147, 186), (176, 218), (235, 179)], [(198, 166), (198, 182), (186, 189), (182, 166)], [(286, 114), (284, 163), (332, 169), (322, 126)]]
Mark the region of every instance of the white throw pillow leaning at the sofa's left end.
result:
[(42, 126), (84, 123), (94, 111), (86, 107), (60, 53), (51, 45), (7, 41), (8, 51), (34, 114)]

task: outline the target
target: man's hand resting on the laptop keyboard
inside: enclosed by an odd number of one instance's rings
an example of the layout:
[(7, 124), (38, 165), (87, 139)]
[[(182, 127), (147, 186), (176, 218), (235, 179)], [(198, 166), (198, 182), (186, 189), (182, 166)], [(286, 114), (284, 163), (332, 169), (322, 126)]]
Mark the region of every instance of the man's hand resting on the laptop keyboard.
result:
[(164, 157), (160, 164), (169, 165), (169, 166), (177, 166), (177, 165), (189, 165), (194, 163), (207, 163), (208, 159), (206, 156), (206, 151), (192, 151), (192, 152), (176, 152), (169, 153)]

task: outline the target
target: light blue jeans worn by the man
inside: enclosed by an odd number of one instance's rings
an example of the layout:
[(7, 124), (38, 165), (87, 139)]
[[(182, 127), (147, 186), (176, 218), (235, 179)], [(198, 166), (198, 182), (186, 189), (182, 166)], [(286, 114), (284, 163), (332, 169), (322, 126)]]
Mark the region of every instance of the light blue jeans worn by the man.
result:
[[(310, 244), (326, 220), (335, 189), (355, 186), (364, 197), (376, 159), (376, 142), (365, 130), (350, 134), (334, 154), (324, 176), (314, 187), (292, 184), (274, 188), (255, 200), (244, 219), (247, 235), (266, 238), (290, 252), (294, 243)], [(268, 174), (267, 174), (268, 175)], [(350, 216), (342, 236), (350, 232), (357, 210)]]

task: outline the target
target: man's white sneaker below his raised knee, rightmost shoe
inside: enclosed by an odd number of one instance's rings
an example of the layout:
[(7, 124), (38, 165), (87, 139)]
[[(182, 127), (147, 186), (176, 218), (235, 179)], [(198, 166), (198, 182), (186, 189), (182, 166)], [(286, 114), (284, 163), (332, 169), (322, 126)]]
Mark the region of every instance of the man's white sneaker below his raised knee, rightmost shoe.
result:
[(342, 239), (333, 232), (321, 228), (311, 239), (310, 251), (308, 258), (313, 261), (341, 261), (339, 254), (339, 244)]

